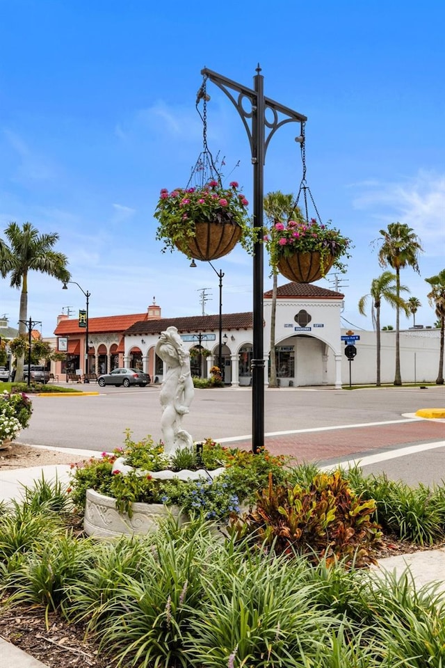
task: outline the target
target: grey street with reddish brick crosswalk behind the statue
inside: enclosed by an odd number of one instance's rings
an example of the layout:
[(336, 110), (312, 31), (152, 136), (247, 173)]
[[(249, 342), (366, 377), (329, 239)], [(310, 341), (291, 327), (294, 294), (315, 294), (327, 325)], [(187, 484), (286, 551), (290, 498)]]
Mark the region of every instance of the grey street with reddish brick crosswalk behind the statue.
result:
[[(31, 424), (20, 442), (101, 452), (122, 445), (125, 429), (136, 439), (161, 439), (159, 385), (82, 389), (99, 395), (34, 397)], [(386, 470), (410, 484), (445, 479), (445, 443), (430, 450), (422, 447), (445, 442), (445, 422), (403, 417), (419, 408), (445, 406), (443, 387), (266, 389), (264, 405), (266, 447), (272, 452), (302, 452), (305, 459), (321, 462), (380, 454), (379, 461), (366, 465), (366, 472)], [(196, 390), (183, 427), (194, 440), (211, 437), (250, 447), (251, 422), (251, 388)], [(388, 456), (407, 446), (414, 451), (394, 459)]]

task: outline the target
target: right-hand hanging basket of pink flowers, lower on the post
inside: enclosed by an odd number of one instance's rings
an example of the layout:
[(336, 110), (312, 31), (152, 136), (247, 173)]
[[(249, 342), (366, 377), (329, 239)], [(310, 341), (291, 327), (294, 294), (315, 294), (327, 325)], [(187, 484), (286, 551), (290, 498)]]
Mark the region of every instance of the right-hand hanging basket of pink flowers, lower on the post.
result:
[(350, 257), (350, 239), (315, 218), (275, 223), (264, 236), (264, 242), (270, 264), (296, 283), (312, 283), (325, 276), (331, 267), (344, 272), (340, 258)]

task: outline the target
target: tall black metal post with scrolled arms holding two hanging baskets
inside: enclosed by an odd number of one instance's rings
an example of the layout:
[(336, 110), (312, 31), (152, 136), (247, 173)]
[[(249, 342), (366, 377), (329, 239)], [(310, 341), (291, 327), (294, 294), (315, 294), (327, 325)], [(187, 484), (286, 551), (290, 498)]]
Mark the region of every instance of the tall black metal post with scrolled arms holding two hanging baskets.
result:
[[(241, 86), (232, 79), (208, 70), (204, 67), (201, 74), (204, 75), (223, 93), (229, 97), (236, 111), (241, 116), (245, 131), (248, 134), (250, 152), (253, 164), (253, 224), (259, 232), (259, 238), (254, 243), (253, 256), (253, 358), (252, 358), (252, 451), (258, 452), (264, 445), (264, 341), (263, 341), (263, 292), (264, 292), (264, 266), (263, 266), (263, 244), (261, 243), (261, 230), (263, 228), (263, 199), (264, 199), (264, 162), (266, 150), (270, 139), (279, 127), (289, 122), (304, 123), (306, 116), (301, 113), (282, 106), (268, 97), (264, 97), (264, 77), (261, 67), (257, 67), (254, 76), (254, 88)], [(238, 93), (237, 99), (232, 91)], [(204, 86), (197, 93), (197, 101), (206, 95)], [(243, 107), (243, 101), (247, 98), (250, 102), (250, 110)], [(271, 112), (266, 118), (266, 111)], [(278, 114), (282, 114), (279, 118)], [(252, 119), (249, 125), (248, 120)], [(266, 128), (268, 136), (266, 137)], [(297, 138), (302, 141), (302, 136)]]

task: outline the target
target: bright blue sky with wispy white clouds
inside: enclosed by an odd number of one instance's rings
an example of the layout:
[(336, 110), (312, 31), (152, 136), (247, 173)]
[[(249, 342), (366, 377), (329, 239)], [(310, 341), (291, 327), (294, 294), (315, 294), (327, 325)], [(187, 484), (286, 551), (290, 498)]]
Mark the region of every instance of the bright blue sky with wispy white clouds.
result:
[[(0, 234), (10, 221), (58, 232), (90, 317), (144, 312), (153, 297), (164, 317), (200, 315), (202, 288), (206, 312), (218, 312), (218, 277), (163, 255), (153, 212), (161, 188), (186, 186), (202, 150), (202, 67), (252, 86), (260, 63), (265, 95), (308, 117), (307, 184), (321, 218), (353, 239), (343, 316), (371, 328), (357, 311), (383, 271), (370, 244), (400, 221), (423, 242), (421, 275), (405, 269), (402, 280), (423, 305), (416, 324), (430, 325), (424, 278), (445, 266), (444, 24), (441, 0), (0, 0)], [(209, 148), (227, 177), (239, 161), (228, 180), (252, 200), (241, 118), (210, 82), (208, 92)], [(288, 124), (272, 138), (265, 193), (298, 191), (298, 134)], [(223, 310), (251, 310), (250, 256), (236, 248), (213, 264), (225, 273)], [(268, 289), (266, 257), (265, 267)], [(84, 305), (75, 285), (62, 292), (31, 274), (28, 315), (43, 335), (63, 307)], [(19, 291), (0, 279), (3, 312), (16, 326)], [(382, 324), (395, 324), (386, 306)]]

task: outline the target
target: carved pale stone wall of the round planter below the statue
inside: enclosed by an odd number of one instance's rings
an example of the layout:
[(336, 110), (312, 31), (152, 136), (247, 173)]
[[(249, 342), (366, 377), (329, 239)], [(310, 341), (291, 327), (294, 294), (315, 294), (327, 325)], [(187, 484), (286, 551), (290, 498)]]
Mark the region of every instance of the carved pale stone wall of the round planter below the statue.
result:
[(83, 528), (88, 536), (96, 538), (113, 538), (122, 534), (144, 535), (156, 531), (159, 520), (169, 514), (179, 518), (180, 522), (185, 520), (180, 515), (179, 507), (159, 503), (133, 503), (133, 515), (130, 518), (127, 513), (118, 512), (115, 499), (88, 489)]

